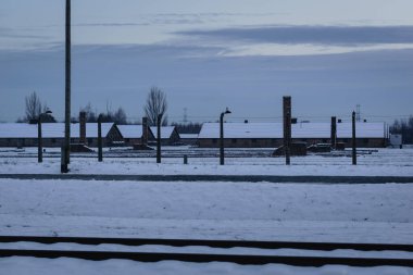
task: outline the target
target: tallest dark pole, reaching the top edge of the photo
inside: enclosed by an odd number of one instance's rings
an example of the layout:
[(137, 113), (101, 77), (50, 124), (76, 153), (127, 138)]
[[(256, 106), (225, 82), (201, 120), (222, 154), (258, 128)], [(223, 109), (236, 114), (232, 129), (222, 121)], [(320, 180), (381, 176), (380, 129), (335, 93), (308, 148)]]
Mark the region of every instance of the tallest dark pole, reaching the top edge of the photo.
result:
[(61, 172), (68, 172), (71, 160), (71, 0), (66, 0), (66, 24), (65, 24), (65, 104), (64, 104), (64, 159)]

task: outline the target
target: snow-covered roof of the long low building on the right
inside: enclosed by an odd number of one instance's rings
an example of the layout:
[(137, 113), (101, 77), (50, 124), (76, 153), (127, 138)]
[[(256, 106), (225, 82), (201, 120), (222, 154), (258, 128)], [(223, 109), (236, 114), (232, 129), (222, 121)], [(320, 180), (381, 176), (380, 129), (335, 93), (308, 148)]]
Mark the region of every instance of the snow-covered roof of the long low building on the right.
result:
[[(356, 123), (358, 138), (384, 138), (385, 123)], [(292, 138), (330, 138), (330, 123), (291, 125)], [(351, 138), (351, 123), (337, 123), (337, 137)], [(204, 123), (198, 138), (218, 138), (220, 124)], [(283, 138), (283, 123), (225, 123), (225, 138)]]

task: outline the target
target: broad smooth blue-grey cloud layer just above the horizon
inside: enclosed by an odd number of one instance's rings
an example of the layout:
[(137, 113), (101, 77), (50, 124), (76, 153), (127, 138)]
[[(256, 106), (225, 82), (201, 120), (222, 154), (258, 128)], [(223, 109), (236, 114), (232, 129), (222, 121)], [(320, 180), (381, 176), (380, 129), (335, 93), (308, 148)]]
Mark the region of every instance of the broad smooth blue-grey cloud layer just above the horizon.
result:
[[(218, 50), (164, 45), (74, 46), (73, 110), (77, 112), (90, 101), (104, 111), (111, 102), (139, 117), (149, 88), (157, 85), (168, 95), (170, 117), (180, 117), (182, 110), (188, 108), (192, 115), (216, 120), (226, 105), (237, 117), (274, 117), (280, 115), (278, 104), (285, 95), (292, 96), (295, 113), (300, 116), (350, 114), (356, 103), (370, 114), (411, 111), (413, 50), (302, 57), (204, 54)], [(27, 92), (37, 90), (62, 118), (63, 70), (63, 46), (43, 52), (0, 50), (4, 99), (0, 117), (21, 116), (23, 109), (16, 107), (23, 108)]]

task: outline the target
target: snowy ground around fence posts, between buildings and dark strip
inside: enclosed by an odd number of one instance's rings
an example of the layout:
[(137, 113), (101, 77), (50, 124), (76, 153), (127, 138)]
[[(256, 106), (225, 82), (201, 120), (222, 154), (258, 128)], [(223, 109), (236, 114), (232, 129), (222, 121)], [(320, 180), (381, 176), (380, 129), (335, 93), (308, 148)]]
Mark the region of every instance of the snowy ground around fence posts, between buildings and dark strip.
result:
[[(59, 153), (59, 149), (48, 150)], [(183, 165), (183, 157), (163, 158), (162, 163), (157, 164), (155, 158), (118, 158), (120, 153), (113, 158), (113, 153), (107, 153), (112, 158), (104, 157), (101, 163), (95, 154), (73, 154), (70, 170), (73, 174), (413, 176), (413, 149), (375, 150), (359, 155), (356, 166), (351, 165), (351, 158), (335, 154), (296, 157), (290, 166), (285, 165), (284, 158), (226, 158), (223, 166), (218, 165), (218, 158), (189, 158), (189, 164)], [(265, 150), (255, 150), (255, 154), (256, 151)], [(2, 149), (0, 174), (59, 174), (60, 157), (54, 154), (52, 158), (52, 152), (39, 164), (36, 148), (24, 151)]]

